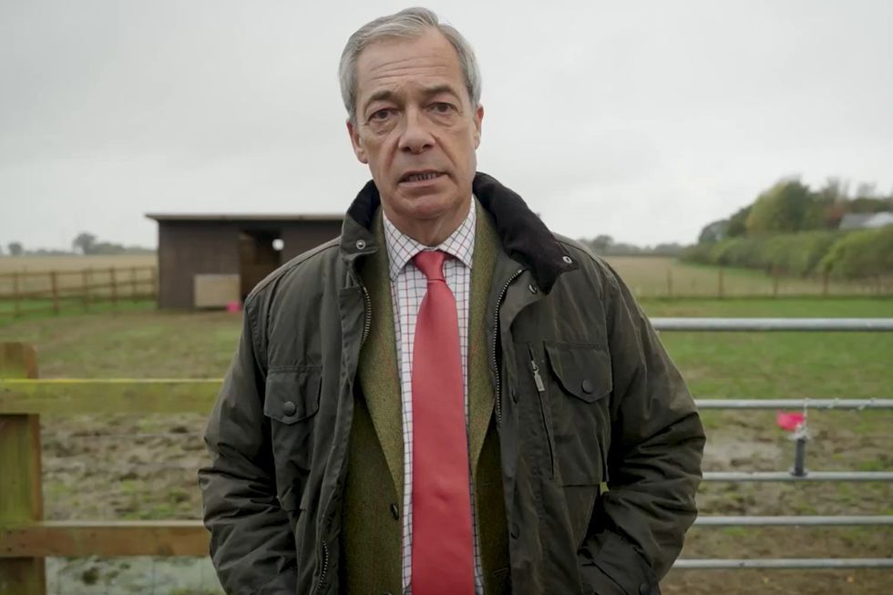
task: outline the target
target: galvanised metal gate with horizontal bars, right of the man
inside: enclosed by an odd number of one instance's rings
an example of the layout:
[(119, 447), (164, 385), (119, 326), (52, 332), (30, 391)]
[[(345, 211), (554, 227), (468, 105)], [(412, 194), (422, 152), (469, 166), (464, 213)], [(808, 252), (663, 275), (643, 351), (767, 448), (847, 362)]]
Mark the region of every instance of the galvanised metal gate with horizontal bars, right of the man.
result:
[[(893, 318), (652, 318), (658, 331), (676, 332), (893, 332)], [(893, 399), (697, 399), (699, 409), (856, 411), (893, 409)], [(797, 440), (790, 471), (706, 471), (708, 482), (891, 482), (893, 471), (807, 471), (806, 438)], [(893, 515), (774, 517), (702, 516), (696, 527), (891, 527)], [(893, 569), (893, 558), (677, 559), (673, 569)]]

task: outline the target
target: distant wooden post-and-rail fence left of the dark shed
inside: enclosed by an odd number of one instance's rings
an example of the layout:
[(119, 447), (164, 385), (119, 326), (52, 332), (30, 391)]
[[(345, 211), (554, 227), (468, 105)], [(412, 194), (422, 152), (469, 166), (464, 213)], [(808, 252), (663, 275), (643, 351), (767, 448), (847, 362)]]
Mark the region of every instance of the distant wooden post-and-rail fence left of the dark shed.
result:
[(59, 313), (75, 307), (89, 312), (99, 303), (154, 299), (155, 267), (87, 268), (73, 271), (0, 273), (0, 316)]

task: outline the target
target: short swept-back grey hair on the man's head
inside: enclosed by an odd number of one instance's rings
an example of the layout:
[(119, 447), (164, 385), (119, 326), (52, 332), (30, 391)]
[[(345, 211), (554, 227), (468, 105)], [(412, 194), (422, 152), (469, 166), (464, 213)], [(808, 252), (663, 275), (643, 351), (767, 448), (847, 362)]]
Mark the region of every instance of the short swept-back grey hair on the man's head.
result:
[(356, 61), (363, 50), (378, 41), (395, 37), (413, 38), (430, 29), (439, 31), (456, 49), (468, 98), (472, 108), (477, 108), (480, 103), (480, 68), (471, 44), (455, 27), (441, 23), (437, 15), (427, 8), (406, 8), (395, 15), (380, 16), (361, 26), (344, 46), (338, 66), (338, 78), (341, 81), (344, 108), (347, 109), (351, 122), (356, 122)]

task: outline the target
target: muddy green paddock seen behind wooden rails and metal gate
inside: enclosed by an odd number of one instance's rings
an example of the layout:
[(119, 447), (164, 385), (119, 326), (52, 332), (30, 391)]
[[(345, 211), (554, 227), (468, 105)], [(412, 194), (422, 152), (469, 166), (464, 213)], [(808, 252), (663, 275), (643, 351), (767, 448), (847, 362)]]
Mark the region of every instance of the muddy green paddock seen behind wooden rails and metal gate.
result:
[[(645, 300), (643, 305), (652, 316), (893, 317), (893, 299)], [(240, 328), (238, 315), (159, 313), (144, 304), (128, 312), (9, 323), (0, 327), (0, 341), (35, 344), (45, 377), (220, 377)], [(662, 337), (698, 397), (893, 396), (893, 333), (663, 333)], [(775, 427), (773, 412), (705, 412), (703, 419), (708, 428), (705, 470), (790, 466), (792, 445)], [(42, 423), (46, 518), (199, 518), (195, 469), (205, 461), (201, 416), (47, 416)], [(814, 413), (808, 467), (893, 468), (891, 423), (889, 413)], [(704, 484), (698, 501), (707, 515), (893, 514), (893, 490), (888, 484)], [(891, 557), (893, 530), (699, 528), (690, 533), (683, 556)], [(196, 567), (172, 560), (54, 560), (50, 583), (57, 588), (53, 592), (103, 593), (111, 584), (111, 573), (118, 573), (120, 585), (128, 572), (144, 576), (149, 564), (159, 595), (175, 589), (183, 589), (181, 593), (214, 589), (207, 562)], [(97, 575), (96, 589), (84, 584), (85, 576), (94, 580)], [(673, 571), (663, 589), (695, 595), (713, 591), (862, 595), (890, 592), (893, 577), (880, 570)]]

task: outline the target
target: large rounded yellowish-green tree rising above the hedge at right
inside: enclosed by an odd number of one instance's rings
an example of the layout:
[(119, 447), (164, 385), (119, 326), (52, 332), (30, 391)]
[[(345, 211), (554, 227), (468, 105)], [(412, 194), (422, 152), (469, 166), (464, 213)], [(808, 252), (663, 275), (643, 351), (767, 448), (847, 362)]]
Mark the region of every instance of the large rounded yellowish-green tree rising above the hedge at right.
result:
[(822, 226), (816, 196), (800, 180), (781, 180), (761, 194), (747, 215), (748, 235), (815, 230)]

